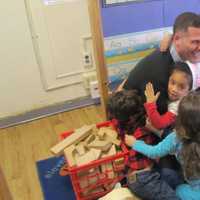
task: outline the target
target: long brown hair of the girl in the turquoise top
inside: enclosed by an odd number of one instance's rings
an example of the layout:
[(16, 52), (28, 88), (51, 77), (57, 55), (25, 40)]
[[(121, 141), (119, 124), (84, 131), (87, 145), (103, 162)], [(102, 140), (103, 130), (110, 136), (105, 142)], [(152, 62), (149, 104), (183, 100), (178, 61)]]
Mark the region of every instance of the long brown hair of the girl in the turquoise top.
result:
[(181, 100), (176, 132), (183, 143), (181, 156), (185, 177), (200, 178), (200, 89)]

